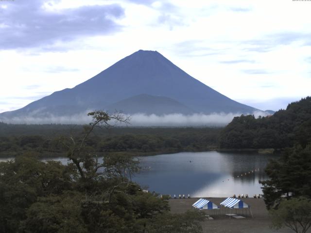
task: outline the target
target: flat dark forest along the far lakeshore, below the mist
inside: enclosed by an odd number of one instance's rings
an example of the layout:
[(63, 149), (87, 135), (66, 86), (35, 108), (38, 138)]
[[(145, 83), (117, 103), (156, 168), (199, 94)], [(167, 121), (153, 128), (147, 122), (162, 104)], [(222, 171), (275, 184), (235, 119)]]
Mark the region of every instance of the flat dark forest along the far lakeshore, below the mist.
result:
[[(13, 125), (0, 123), (0, 154), (16, 156), (22, 151), (59, 156), (62, 136), (77, 136), (81, 125)], [(111, 128), (96, 129), (86, 145), (99, 153), (150, 155), (179, 151), (204, 151), (218, 147), (220, 128)]]

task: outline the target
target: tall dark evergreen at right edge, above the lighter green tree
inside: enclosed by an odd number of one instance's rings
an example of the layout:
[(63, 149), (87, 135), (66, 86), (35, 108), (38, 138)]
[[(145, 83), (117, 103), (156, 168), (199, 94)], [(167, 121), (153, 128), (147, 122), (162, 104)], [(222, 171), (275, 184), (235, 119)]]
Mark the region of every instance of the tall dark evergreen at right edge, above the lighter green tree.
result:
[(267, 208), (276, 207), (282, 197), (304, 196), (311, 198), (311, 146), (288, 149), (279, 160), (268, 163), (265, 172), (269, 176), (261, 181)]

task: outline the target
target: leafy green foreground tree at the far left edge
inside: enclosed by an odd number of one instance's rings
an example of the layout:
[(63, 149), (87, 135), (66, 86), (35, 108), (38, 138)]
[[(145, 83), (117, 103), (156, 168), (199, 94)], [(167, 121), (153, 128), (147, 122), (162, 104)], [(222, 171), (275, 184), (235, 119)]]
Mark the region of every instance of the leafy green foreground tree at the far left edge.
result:
[(73, 189), (74, 171), (59, 162), (41, 162), (31, 153), (0, 163), (0, 232), (16, 233), (38, 197)]

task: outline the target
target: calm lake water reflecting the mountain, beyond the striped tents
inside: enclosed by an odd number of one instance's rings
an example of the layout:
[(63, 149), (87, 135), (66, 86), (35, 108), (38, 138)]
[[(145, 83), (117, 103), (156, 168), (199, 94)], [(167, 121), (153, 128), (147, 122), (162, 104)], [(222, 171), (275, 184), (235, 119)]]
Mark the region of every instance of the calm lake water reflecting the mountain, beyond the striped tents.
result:
[[(228, 197), (261, 194), (259, 180), (275, 155), (258, 153), (181, 152), (139, 157), (142, 169), (134, 181), (159, 194)], [(246, 173), (246, 174), (245, 174)]]

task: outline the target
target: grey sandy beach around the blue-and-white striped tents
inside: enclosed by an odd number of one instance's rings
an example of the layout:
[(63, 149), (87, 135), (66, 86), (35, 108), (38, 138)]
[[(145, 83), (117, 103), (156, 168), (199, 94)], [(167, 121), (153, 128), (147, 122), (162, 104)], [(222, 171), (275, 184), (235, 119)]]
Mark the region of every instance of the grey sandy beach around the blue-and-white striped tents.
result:
[[(219, 206), (220, 202), (225, 198), (205, 198)], [(199, 198), (190, 199), (171, 199), (169, 200), (172, 213), (184, 213), (187, 210), (192, 210), (192, 204)], [(202, 210), (207, 215), (212, 216), (213, 220), (205, 220), (202, 222), (204, 233), (293, 233), (289, 228), (273, 230), (270, 228), (271, 220), (266, 210), (263, 199), (244, 198), (241, 199), (251, 206), (253, 218), (248, 211), (240, 211), (239, 216), (245, 218), (236, 219), (225, 215), (225, 209), (211, 213), (208, 210)], [(221, 214), (220, 214), (221, 213)], [(227, 209), (226, 213), (230, 213)], [(310, 232), (310, 231), (309, 231)]]

